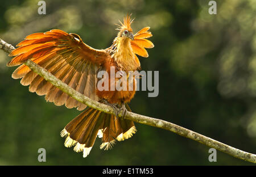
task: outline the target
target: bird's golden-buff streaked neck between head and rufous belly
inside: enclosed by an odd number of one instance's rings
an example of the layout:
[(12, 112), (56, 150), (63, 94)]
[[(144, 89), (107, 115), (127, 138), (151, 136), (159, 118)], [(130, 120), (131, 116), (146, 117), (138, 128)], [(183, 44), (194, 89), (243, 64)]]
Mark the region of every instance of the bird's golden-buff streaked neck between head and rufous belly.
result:
[(117, 63), (119, 70), (134, 71), (140, 67), (136, 61), (133, 48), (130, 44), (131, 39), (116, 37), (112, 47), (112, 58)]

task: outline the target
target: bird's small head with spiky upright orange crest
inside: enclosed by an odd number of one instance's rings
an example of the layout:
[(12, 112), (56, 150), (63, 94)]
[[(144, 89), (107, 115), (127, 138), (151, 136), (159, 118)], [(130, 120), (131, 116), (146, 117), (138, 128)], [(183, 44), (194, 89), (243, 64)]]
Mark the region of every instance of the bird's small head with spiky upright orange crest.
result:
[(125, 37), (126, 39), (134, 40), (133, 29), (131, 28), (133, 20), (131, 20), (131, 15), (125, 16), (123, 18), (123, 23), (119, 20), (121, 24), (117, 24), (117, 30), (119, 30), (118, 37)]

